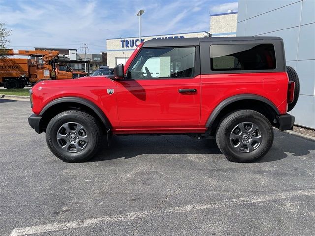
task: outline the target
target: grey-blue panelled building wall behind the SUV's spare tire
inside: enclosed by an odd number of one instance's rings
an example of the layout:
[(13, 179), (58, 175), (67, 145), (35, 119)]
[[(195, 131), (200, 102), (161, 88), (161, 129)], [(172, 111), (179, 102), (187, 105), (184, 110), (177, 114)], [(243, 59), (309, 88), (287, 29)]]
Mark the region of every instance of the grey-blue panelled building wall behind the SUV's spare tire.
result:
[(239, 0), (237, 36), (283, 38), (286, 64), (300, 78), (295, 123), (315, 129), (315, 0)]

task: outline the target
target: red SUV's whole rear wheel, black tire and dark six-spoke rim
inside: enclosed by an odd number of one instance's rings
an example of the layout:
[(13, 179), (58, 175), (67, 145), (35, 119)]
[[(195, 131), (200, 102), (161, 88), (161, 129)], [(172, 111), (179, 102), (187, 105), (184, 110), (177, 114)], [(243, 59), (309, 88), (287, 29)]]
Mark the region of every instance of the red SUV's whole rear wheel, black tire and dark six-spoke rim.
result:
[(273, 129), (269, 120), (253, 110), (239, 110), (221, 121), (216, 141), (221, 152), (233, 162), (252, 162), (271, 148)]

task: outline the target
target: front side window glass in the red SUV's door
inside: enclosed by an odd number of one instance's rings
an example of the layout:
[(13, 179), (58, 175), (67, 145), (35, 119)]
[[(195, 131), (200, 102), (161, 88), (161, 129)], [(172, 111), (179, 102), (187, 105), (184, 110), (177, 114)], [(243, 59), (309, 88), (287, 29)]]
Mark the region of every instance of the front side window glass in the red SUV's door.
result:
[(132, 62), (128, 79), (189, 78), (194, 75), (195, 48), (145, 48)]

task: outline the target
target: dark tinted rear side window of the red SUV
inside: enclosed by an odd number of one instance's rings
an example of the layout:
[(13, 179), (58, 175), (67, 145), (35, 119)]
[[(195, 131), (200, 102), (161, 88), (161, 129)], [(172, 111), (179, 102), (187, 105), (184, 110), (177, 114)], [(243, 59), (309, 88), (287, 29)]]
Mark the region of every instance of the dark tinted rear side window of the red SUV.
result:
[(272, 44), (225, 44), (210, 46), (213, 71), (273, 70), (276, 68)]

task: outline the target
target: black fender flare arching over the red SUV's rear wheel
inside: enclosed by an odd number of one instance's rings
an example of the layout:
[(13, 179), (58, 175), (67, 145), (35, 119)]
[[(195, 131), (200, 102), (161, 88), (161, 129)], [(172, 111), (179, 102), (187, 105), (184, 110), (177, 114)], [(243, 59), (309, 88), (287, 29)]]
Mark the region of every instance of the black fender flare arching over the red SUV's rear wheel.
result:
[(268, 100), (265, 97), (256, 95), (256, 94), (239, 94), (239, 95), (235, 95), (232, 97), (229, 97), (225, 100), (223, 100), (210, 114), (207, 123), (206, 123), (206, 128), (211, 127), (211, 125), (213, 124), (213, 122), (215, 121), (215, 119), (217, 118), (217, 116), (220, 114), (220, 112), (229, 104), (236, 102), (236, 101), (241, 101), (241, 100), (256, 100), (256, 101), (260, 101), (260, 102), (264, 102), (266, 104), (268, 104), (270, 107), (273, 108), (273, 110), (276, 112), (277, 115), (280, 114), (278, 108), (275, 106), (275, 104), (273, 104), (272, 101)]

